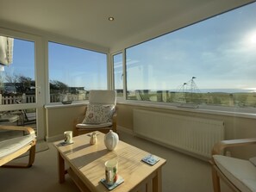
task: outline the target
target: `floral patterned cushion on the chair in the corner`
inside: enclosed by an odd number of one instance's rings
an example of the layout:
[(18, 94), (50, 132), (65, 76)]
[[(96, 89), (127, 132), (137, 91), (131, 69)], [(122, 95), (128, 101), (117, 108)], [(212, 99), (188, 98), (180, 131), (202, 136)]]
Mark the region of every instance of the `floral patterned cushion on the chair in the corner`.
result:
[(111, 122), (115, 112), (115, 105), (88, 104), (84, 121), (85, 124), (99, 124)]

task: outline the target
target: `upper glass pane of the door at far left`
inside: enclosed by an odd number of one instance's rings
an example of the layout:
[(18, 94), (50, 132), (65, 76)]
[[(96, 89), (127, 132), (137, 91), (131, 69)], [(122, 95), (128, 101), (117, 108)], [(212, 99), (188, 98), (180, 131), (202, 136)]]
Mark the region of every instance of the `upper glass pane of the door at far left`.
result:
[(34, 42), (0, 36), (0, 104), (36, 102)]

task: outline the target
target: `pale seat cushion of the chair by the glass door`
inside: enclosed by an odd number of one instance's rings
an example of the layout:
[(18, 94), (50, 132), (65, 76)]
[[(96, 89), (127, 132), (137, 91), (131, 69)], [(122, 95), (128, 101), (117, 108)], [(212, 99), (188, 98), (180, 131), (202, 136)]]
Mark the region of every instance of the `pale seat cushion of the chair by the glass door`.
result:
[(23, 146), (27, 146), (35, 139), (35, 134), (28, 134), (13, 139), (6, 139), (0, 142), (0, 158), (18, 151)]

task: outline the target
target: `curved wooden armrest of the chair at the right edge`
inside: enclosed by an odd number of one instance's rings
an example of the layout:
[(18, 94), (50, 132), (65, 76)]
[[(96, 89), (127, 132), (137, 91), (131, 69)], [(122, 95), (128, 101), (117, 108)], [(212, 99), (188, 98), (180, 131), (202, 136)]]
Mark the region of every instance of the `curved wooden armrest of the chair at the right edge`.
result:
[(221, 154), (222, 150), (228, 147), (234, 146), (247, 146), (256, 144), (256, 138), (251, 139), (232, 139), (232, 140), (222, 140), (215, 144), (212, 149), (212, 155), (219, 155)]

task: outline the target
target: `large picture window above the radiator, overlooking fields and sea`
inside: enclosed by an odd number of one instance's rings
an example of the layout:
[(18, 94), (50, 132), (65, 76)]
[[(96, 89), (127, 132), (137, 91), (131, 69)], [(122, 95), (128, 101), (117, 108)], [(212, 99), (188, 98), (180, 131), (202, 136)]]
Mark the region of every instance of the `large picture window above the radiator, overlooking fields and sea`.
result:
[(127, 99), (256, 107), (256, 3), (126, 50)]

